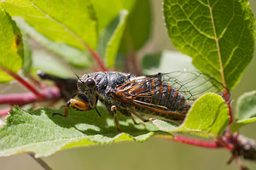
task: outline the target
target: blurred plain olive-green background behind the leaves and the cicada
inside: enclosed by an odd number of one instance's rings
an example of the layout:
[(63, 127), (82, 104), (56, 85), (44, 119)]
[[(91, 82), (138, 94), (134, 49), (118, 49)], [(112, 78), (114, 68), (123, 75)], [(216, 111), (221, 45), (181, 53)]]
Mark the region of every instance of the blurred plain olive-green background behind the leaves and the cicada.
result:
[[(160, 0), (151, 0), (153, 30), (150, 41), (142, 51), (147, 54), (164, 49), (175, 50), (167, 35)], [(256, 14), (256, 1), (250, 0), (253, 14)], [(254, 53), (255, 55), (255, 53)], [(242, 57), (242, 56), (241, 56)], [(241, 82), (232, 94), (233, 105), (243, 93), (256, 89), (256, 58), (244, 72)], [(241, 133), (256, 139), (256, 123), (243, 127)], [(151, 138), (140, 144), (123, 142), (118, 144), (97, 145), (92, 147), (64, 150), (54, 156), (43, 158), (53, 169), (239, 169), (235, 162), (227, 165), (230, 153), (222, 149), (205, 149), (187, 144), (178, 144), (166, 139)], [(243, 161), (250, 169), (256, 163)], [(27, 154), (0, 158), (0, 169), (43, 169)]]

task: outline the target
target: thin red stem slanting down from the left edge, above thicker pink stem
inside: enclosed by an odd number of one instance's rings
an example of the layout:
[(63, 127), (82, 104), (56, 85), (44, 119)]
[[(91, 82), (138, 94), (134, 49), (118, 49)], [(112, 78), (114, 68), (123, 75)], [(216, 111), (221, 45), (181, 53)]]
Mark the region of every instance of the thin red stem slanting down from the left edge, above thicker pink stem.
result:
[(26, 82), (23, 78), (15, 74), (15, 72), (10, 71), (9, 69), (4, 68), (3, 66), (0, 66), (0, 69), (9, 74), (9, 76), (14, 77), (18, 82), (20, 82), (20, 84), (29, 89), (33, 94), (37, 95), (38, 98), (45, 98), (44, 94), (40, 94), (37, 88), (34, 88), (30, 83)]

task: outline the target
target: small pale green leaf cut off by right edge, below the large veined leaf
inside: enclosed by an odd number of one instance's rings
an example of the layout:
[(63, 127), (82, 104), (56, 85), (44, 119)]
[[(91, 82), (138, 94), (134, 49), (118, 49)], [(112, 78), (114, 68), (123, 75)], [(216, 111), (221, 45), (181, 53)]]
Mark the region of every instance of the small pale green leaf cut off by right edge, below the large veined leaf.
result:
[(236, 105), (236, 122), (230, 128), (235, 133), (239, 128), (256, 122), (256, 91), (241, 95)]

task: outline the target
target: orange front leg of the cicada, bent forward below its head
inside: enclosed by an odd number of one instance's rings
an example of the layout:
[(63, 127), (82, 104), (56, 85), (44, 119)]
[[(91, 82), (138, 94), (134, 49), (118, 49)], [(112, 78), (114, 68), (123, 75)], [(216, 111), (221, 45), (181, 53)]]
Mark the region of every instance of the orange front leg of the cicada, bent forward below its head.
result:
[(77, 108), (79, 111), (89, 111), (90, 106), (86, 105), (83, 101), (80, 101), (78, 99), (69, 99), (67, 101), (66, 107), (65, 107), (65, 114), (62, 115), (61, 113), (53, 113), (52, 116), (59, 115), (59, 116), (68, 116), (68, 107), (69, 105)]

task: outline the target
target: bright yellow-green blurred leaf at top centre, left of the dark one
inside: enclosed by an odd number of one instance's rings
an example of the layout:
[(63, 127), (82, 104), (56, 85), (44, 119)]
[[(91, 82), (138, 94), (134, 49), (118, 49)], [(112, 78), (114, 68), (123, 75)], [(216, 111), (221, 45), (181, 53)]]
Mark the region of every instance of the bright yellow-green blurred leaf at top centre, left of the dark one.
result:
[(99, 32), (106, 28), (111, 20), (113, 20), (121, 9), (131, 11), (136, 0), (91, 0), (98, 15)]

